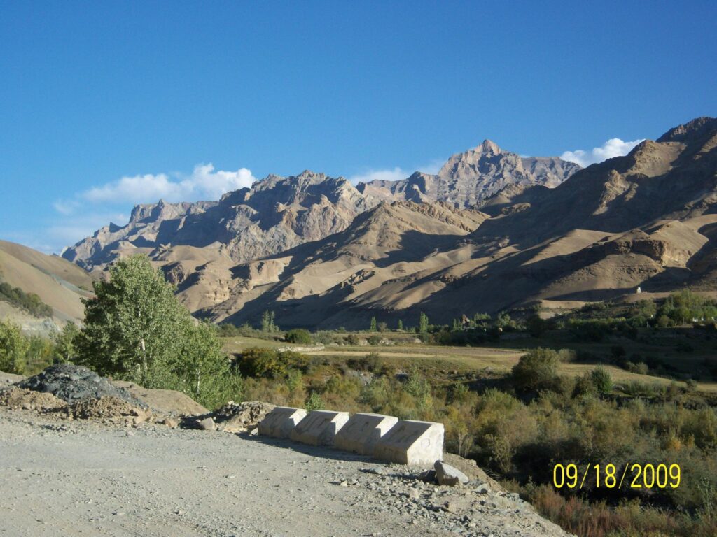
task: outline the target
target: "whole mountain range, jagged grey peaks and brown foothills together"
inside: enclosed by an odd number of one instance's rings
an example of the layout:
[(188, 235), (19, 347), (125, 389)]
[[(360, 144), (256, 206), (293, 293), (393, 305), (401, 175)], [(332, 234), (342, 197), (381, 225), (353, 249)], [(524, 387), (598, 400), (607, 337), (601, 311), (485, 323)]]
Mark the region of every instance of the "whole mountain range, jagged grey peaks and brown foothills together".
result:
[(717, 120), (581, 169), (485, 140), (435, 175), (352, 185), (305, 171), (199, 203), (134, 208), (63, 257), (145, 253), (196, 315), (389, 326), (530, 304), (717, 288)]

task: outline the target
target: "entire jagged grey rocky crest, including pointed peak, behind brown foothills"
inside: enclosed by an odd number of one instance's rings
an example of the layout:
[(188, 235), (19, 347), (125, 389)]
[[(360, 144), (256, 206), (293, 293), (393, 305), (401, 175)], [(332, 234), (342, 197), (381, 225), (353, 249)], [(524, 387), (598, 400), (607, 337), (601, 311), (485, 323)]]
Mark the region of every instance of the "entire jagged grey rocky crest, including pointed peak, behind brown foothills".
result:
[(156, 258), (167, 248), (189, 246), (204, 248), (210, 259), (240, 263), (343, 231), (381, 200), (467, 208), (511, 186), (554, 187), (578, 169), (559, 158), (521, 158), (485, 140), (453, 155), (438, 175), (417, 172), (396, 182), (354, 188), (343, 178), (310, 171), (269, 175), (219, 201), (137, 205), (126, 226), (105, 226), (62, 256), (92, 270), (130, 253)]

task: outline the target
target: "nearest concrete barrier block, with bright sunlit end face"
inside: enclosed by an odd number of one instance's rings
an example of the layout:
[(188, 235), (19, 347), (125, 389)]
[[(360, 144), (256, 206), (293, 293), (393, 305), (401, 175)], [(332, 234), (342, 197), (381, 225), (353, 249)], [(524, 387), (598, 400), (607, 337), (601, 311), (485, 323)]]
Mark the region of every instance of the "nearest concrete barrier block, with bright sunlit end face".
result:
[(443, 458), (442, 423), (399, 420), (381, 437), (374, 458), (390, 463), (432, 466)]

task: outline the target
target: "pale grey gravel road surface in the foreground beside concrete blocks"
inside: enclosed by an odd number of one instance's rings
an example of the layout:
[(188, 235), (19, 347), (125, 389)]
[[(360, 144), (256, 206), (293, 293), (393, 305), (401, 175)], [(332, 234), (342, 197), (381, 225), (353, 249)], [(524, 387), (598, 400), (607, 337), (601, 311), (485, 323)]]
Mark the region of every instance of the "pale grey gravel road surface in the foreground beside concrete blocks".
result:
[(410, 474), (290, 442), (0, 409), (0, 536), (564, 535), (520, 500)]

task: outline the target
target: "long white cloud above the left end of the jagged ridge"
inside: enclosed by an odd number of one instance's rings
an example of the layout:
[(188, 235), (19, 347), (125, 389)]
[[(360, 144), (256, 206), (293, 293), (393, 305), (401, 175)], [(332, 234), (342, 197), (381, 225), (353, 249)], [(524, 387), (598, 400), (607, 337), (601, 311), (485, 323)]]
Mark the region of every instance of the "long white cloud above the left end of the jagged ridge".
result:
[[(80, 198), (90, 203), (149, 203), (160, 198), (171, 201), (218, 200), (229, 190), (249, 187), (256, 178), (251, 170), (214, 170), (212, 164), (199, 164), (189, 176), (166, 173), (125, 176), (113, 183), (90, 188)], [(60, 202), (55, 203), (55, 208)], [(67, 208), (67, 205), (61, 205)]]

